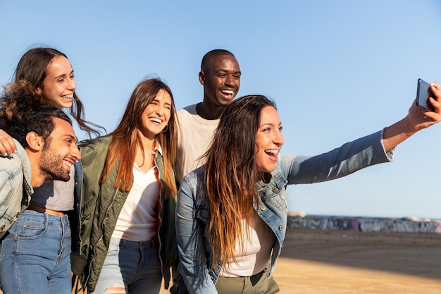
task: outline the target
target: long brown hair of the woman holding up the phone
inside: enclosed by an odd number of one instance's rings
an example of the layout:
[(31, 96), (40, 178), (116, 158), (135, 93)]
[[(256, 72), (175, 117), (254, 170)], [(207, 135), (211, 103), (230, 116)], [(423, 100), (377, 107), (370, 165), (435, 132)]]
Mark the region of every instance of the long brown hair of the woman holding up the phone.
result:
[(203, 168), (206, 195), (210, 200), (211, 220), (209, 243), (213, 249), (213, 264), (236, 262), (237, 240), (243, 249), (248, 235), (242, 221), (248, 225), (259, 202), (257, 182), (263, 173), (256, 169), (256, 134), (261, 109), (274, 102), (261, 95), (235, 99), (225, 108), (213, 141), (205, 154)]

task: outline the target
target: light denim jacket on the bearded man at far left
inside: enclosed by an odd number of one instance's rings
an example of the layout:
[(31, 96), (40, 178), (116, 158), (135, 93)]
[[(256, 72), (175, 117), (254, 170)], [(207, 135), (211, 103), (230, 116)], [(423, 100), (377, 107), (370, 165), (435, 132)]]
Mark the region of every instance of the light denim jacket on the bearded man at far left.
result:
[(0, 157), (0, 238), (25, 211), (34, 190), (30, 185), (30, 161), (25, 149), (15, 141), (12, 159)]

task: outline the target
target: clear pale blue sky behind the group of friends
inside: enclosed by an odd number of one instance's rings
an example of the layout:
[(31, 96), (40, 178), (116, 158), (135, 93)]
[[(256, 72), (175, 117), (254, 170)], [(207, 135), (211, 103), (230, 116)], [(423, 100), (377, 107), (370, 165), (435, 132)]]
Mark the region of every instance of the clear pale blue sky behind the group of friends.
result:
[[(168, 83), (178, 109), (200, 102), (201, 58), (217, 48), (240, 63), (239, 96), (278, 104), (284, 154), (327, 152), (391, 125), (418, 78), (441, 82), (437, 0), (0, 0), (0, 11), (1, 85), (27, 49), (56, 47), (73, 65), (87, 119), (108, 131), (146, 75)], [(435, 125), (399, 145), (392, 164), (288, 188), (290, 210), (441, 219), (439, 150)]]

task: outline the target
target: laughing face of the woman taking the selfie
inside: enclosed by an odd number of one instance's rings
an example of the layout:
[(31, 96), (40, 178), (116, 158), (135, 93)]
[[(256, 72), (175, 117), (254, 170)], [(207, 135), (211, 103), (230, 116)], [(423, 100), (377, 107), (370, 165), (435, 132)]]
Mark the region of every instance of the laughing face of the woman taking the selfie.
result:
[(282, 123), (279, 114), (273, 106), (263, 107), (256, 134), (256, 164), (259, 171), (274, 171), (282, 145)]

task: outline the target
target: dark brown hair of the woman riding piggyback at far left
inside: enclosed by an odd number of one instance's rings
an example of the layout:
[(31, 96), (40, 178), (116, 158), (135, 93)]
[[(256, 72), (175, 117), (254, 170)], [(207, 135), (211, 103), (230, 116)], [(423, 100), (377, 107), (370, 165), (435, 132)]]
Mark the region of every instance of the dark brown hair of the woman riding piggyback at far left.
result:
[[(66, 54), (54, 48), (37, 47), (28, 50), (18, 61), (14, 81), (26, 80), (33, 87), (40, 87), (44, 78), (46, 78), (49, 66), (51, 66), (56, 56), (64, 56), (68, 59)], [(89, 137), (92, 137), (92, 134), (100, 135), (99, 128), (104, 130), (103, 127), (85, 120), (85, 108), (75, 92), (73, 92), (73, 104), (70, 106), (69, 113), (77, 121), (80, 129), (84, 130)]]

